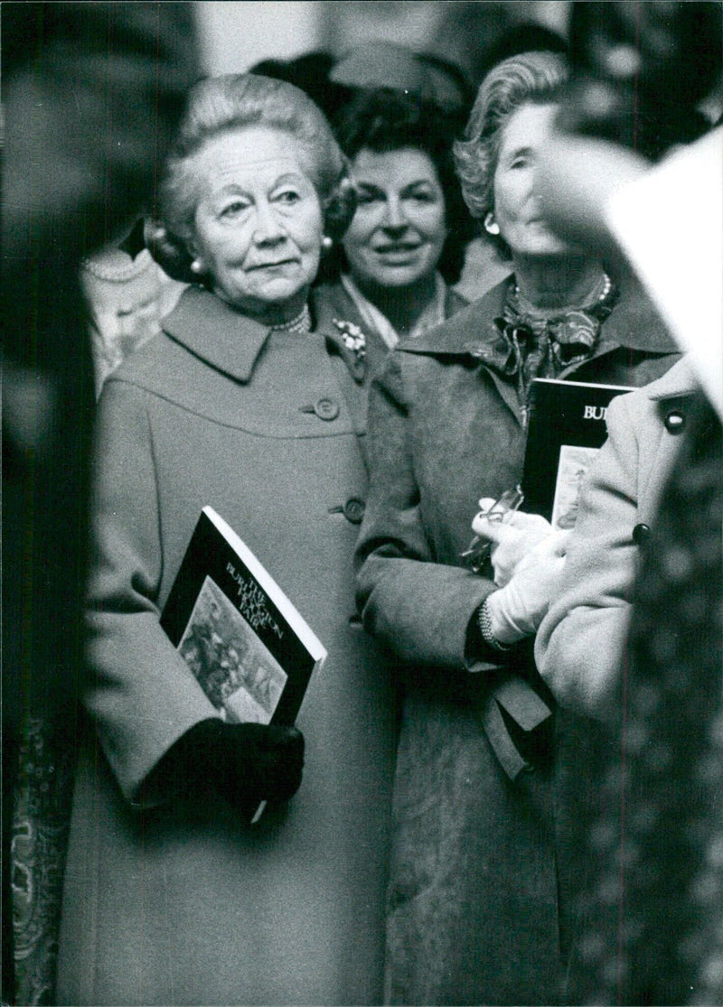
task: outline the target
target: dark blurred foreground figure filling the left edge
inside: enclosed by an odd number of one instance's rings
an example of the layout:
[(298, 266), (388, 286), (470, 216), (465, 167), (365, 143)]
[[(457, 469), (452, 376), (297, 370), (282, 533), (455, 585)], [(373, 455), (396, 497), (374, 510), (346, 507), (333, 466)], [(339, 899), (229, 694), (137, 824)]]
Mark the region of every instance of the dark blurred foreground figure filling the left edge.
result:
[(8, 1002), (54, 1002), (82, 674), (93, 424), (78, 264), (127, 227), (151, 190), (153, 158), (196, 73), (192, 34), (185, 4), (3, 8), (2, 896)]

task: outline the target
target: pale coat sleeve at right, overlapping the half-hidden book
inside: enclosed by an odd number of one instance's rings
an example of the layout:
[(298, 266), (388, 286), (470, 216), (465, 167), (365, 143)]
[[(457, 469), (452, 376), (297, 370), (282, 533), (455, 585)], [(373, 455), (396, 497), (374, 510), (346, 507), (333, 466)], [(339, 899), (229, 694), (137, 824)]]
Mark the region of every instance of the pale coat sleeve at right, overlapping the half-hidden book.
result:
[(576, 713), (620, 715), (636, 540), (655, 520), (697, 387), (684, 357), (608, 407), (608, 439), (588, 472), (560, 594), (534, 644), (540, 675)]

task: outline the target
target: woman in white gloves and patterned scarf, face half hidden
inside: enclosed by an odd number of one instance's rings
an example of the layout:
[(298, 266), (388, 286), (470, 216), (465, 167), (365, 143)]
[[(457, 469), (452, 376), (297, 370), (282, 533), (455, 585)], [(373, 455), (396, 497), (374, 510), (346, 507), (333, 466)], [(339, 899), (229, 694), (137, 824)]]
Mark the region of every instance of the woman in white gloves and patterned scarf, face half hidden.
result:
[(652, 306), (547, 226), (537, 153), (567, 76), (513, 56), (485, 79), (457, 146), (473, 214), (512, 276), (392, 351), (372, 383), (370, 488), (357, 550), (367, 629), (404, 697), (387, 922), (392, 1003), (554, 1003), (560, 978), (555, 702), (531, 644), (564, 540), (517, 514), (474, 528), (498, 549), (465, 567), (480, 498), (522, 473), (533, 378), (642, 385), (677, 350)]

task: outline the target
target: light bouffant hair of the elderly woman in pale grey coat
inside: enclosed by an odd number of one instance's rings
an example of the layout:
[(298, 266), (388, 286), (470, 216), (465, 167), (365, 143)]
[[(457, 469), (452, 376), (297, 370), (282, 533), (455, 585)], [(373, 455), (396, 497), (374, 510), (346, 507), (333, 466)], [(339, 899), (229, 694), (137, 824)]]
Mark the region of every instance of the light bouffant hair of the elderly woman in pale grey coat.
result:
[(326, 234), (340, 238), (348, 228), (356, 204), (348, 164), (314, 102), (285, 81), (254, 74), (206, 78), (189, 92), (163, 165), (158, 212), (146, 227), (148, 248), (174, 279), (199, 281), (188, 251), (200, 195), (194, 156), (209, 140), (254, 126), (281, 130), (296, 141), (322, 204)]

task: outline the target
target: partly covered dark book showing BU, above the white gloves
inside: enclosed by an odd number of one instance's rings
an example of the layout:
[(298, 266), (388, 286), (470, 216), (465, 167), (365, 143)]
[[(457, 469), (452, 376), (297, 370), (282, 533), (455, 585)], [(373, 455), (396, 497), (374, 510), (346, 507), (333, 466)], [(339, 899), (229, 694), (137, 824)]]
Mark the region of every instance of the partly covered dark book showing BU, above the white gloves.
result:
[(541, 514), (556, 531), (574, 527), (580, 489), (607, 439), (605, 414), (622, 385), (535, 378), (529, 400), (522, 490), (524, 510)]

